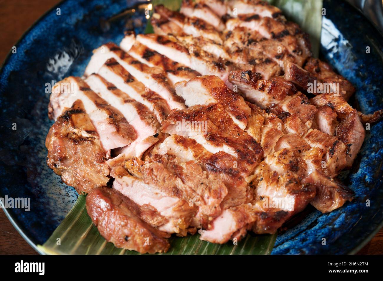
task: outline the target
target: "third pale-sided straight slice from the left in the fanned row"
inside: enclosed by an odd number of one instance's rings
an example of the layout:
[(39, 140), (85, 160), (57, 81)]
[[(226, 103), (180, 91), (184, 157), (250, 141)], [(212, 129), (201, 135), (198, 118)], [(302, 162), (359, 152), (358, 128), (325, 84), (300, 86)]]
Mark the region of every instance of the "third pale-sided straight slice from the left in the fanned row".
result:
[(144, 84), (137, 81), (115, 59), (108, 59), (98, 70), (98, 74), (108, 82), (113, 83), (119, 90), (128, 93), (134, 100), (146, 105), (159, 122), (169, 114), (167, 102)]

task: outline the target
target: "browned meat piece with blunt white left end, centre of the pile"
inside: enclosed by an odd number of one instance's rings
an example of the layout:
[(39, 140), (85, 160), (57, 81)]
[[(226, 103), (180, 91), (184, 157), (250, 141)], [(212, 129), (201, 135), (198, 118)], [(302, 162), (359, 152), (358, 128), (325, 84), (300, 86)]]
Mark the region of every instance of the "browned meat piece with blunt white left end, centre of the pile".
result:
[(219, 77), (206, 75), (179, 82), (175, 85), (175, 91), (187, 106), (221, 103), (234, 123), (241, 129), (246, 128), (251, 109), (242, 96), (230, 90)]

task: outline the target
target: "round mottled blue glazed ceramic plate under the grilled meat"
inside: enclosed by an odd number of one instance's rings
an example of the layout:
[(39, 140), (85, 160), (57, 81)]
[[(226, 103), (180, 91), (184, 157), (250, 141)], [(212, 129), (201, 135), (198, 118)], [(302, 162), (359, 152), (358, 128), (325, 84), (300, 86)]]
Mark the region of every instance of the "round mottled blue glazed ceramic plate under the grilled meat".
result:
[[(118, 43), (124, 29), (142, 33), (146, 20), (137, 6), (140, 3), (147, 1), (64, 1), (28, 30), (16, 44), (16, 53), (10, 53), (2, 66), (0, 197), (31, 198), (29, 212), (5, 212), (35, 249), (48, 239), (77, 199), (74, 188), (61, 183), (46, 165), (44, 141), (52, 125), (47, 117), (46, 83), (81, 76), (92, 50), (108, 41)], [(363, 113), (383, 108), (381, 36), (347, 3), (325, 0), (324, 8), (321, 56), (357, 88), (354, 106)], [(342, 175), (355, 191), (354, 201), (329, 214), (308, 207), (278, 235), (272, 253), (344, 254), (362, 248), (383, 221), (382, 158), (380, 122), (367, 131), (354, 168)], [(326, 245), (322, 245), (323, 238)]]

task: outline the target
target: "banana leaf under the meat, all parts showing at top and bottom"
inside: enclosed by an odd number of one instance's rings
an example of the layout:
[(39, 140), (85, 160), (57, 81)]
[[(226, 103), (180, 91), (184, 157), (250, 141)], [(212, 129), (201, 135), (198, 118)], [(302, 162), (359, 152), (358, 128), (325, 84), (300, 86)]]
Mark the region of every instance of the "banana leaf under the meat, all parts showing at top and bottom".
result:
[[(298, 23), (310, 35), (312, 51), (318, 56), (322, 23), (322, 0), (267, 0), (272, 5), (279, 7), (289, 20)], [(171, 10), (178, 10), (181, 0), (153, 0), (153, 7), (164, 4)], [(148, 22), (145, 33), (152, 33), (153, 28)], [(76, 204), (65, 217), (64, 221), (52, 233), (51, 237), (38, 248), (46, 254), (116, 254), (138, 255), (134, 251), (116, 248), (107, 242), (92, 224), (85, 208), (85, 195), (80, 195)], [(245, 239), (233, 245), (213, 244), (201, 241), (198, 234), (187, 237), (172, 236), (169, 239), (170, 250), (162, 255), (248, 255), (270, 254), (275, 239), (274, 235), (248, 234)]]

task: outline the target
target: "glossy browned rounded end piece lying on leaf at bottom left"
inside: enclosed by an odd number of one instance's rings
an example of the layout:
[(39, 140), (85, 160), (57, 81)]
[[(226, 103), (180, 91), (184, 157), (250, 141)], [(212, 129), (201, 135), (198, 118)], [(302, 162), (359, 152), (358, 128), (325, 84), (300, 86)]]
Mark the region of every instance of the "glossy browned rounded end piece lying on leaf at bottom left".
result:
[(111, 188), (96, 188), (86, 199), (87, 212), (100, 234), (118, 248), (139, 253), (162, 253), (170, 247), (169, 234), (144, 222), (140, 208)]

